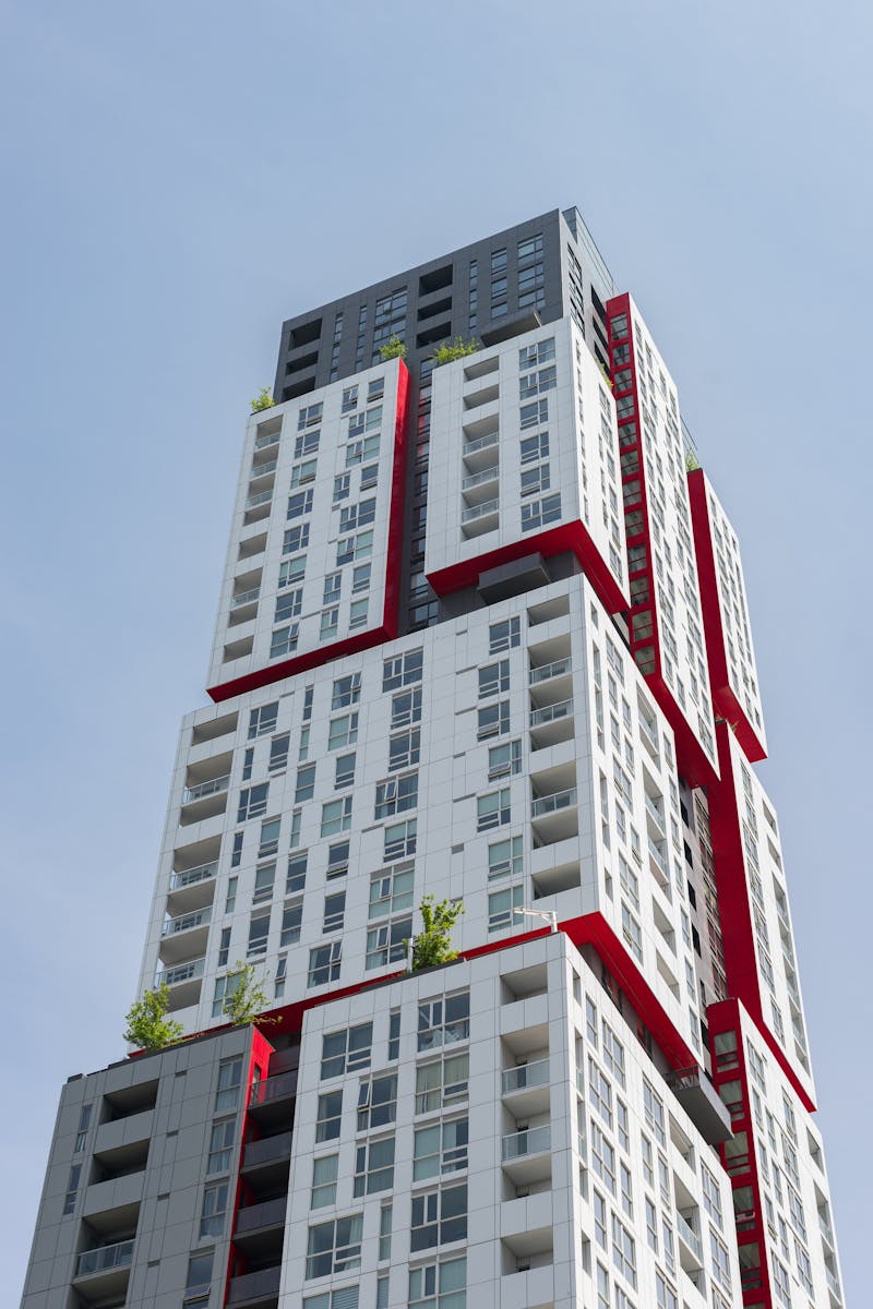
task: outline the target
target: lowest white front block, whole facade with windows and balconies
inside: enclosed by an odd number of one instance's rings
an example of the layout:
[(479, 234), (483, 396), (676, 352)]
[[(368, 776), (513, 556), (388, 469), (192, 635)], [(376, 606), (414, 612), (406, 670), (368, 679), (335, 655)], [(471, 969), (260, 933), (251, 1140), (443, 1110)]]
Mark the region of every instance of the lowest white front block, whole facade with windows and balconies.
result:
[(448, 1262), (467, 1305), (742, 1304), (729, 1179), (563, 933), (309, 1011), (296, 1113), (283, 1309)]

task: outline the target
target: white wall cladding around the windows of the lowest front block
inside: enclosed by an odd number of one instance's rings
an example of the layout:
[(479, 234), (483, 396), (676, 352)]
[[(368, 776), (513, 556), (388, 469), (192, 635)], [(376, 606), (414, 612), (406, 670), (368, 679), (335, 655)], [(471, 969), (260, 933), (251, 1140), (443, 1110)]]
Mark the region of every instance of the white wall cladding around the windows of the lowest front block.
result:
[[(419, 1004), (466, 990), (472, 997), (469, 1039), (455, 1031), (457, 1039), (450, 1045), (420, 1051)], [(390, 1013), (399, 1013), (401, 1024), (395, 1059), (389, 1058)], [(360, 1024), (373, 1026), (372, 1062), (346, 1077), (322, 1079), (323, 1035)], [(605, 1025), (620, 1046), (620, 1071), (618, 1063), (606, 1060)], [(416, 1113), (418, 1069), (437, 1062), (444, 1052), (450, 1058), (469, 1055), (469, 1089), (466, 1094), (463, 1089), (454, 1093), (448, 1103)], [(541, 1080), (543, 1060), (547, 1060), (544, 1081)], [(512, 1069), (522, 1063), (527, 1063), (529, 1085), (514, 1089)], [(364, 1123), (359, 1132), (359, 1088), (380, 1075), (397, 1076), (395, 1121), (369, 1134)], [(599, 1107), (590, 1089), (594, 1081), (603, 1097)], [(660, 1126), (652, 1100), (647, 1111), (645, 1083), (662, 1106)], [(317, 1141), (319, 1094), (340, 1089), (339, 1135)], [(414, 1181), (415, 1130), (463, 1118), (469, 1122), (469, 1166)], [(517, 1135), (520, 1124), (527, 1124), (526, 1138)], [(538, 1128), (542, 1139), (534, 1135)], [(660, 1140), (658, 1132), (662, 1132)], [(380, 1140), (394, 1138), (394, 1173), (386, 1190), (355, 1198), (357, 1148), (368, 1135)], [(649, 1143), (652, 1173), (644, 1164), (644, 1139)], [(606, 1179), (610, 1151), (613, 1187)], [(334, 1203), (313, 1210), (313, 1158), (332, 1153), (339, 1155)], [(507, 1153), (516, 1157), (507, 1160)], [(597, 1157), (606, 1160), (606, 1173)], [(711, 1207), (719, 1217), (707, 1212), (704, 1168), (713, 1182), (709, 1194), (716, 1202)], [(308, 1297), (346, 1285), (360, 1285), (361, 1305), (376, 1304), (377, 1282), (382, 1278), (389, 1279), (385, 1302), (401, 1309), (411, 1301), (410, 1270), (448, 1259), (466, 1259), (467, 1305), (500, 1309), (594, 1305), (598, 1264), (599, 1276), (609, 1282), (610, 1305), (658, 1304), (658, 1275), (688, 1309), (703, 1305), (725, 1309), (742, 1302), (732, 1247), (729, 1179), (563, 933), (309, 1011), (291, 1178), (283, 1309), (300, 1309)], [(466, 1237), (429, 1250), (411, 1250), (414, 1198), (440, 1185), (444, 1189), (466, 1185)], [(647, 1237), (647, 1200), (656, 1215), (654, 1247)], [(606, 1217), (606, 1247), (598, 1240), (596, 1223), (594, 1207), (599, 1202)], [(385, 1258), (380, 1258), (385, 1204), (391, 1207), (390, 1250), (383, 1244)], [(310, 1225), (352, 1215), (363, 1219), (360, 1266), (308, 1279)], [(681, 1216), (690, 1224), (691, 1234)], [(624, 1266), (619, 1271), (614, 1220), (632, 1242), (632, 1270)], [(711, 1229), (725, 1249), (725, 1272), (716, 1274)], [(673, 1245), (671, 1255), (665, 1247), (665, 1233)]]

